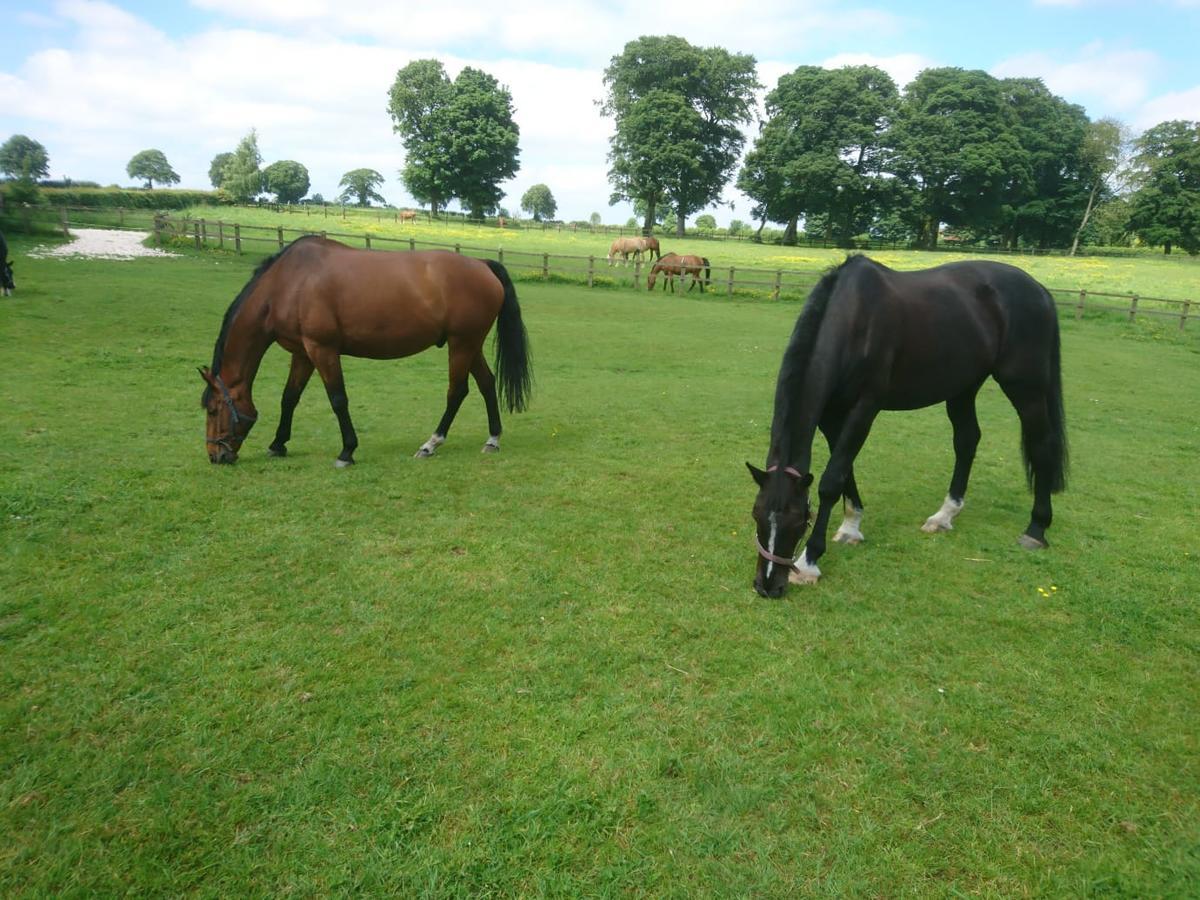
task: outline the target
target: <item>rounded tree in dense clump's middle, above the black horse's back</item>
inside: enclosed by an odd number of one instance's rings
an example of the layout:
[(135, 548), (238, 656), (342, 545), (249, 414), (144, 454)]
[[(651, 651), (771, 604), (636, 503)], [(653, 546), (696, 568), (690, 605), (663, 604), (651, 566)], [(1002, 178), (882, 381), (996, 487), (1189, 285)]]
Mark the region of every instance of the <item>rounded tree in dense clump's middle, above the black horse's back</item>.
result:
[(1028, 155), (1000, 80), (977, 70), (926, 68), (907, 88), (887, 134), (902, 182), (898, 209), (918, 241), (937, 246), (942, 224), (986, 232), (1003, 223), (1004, 191), (1030, 180)]

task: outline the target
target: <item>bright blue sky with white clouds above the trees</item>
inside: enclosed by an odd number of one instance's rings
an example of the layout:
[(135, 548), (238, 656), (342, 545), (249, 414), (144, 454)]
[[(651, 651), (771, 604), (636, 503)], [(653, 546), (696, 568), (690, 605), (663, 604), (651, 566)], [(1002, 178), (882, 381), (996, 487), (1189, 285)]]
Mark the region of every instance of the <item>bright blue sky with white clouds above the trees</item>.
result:
[[(128, 184), (130, 157), (157, 148), (182, 186), (208, 187), (212, 156), (254, 127), (264, 161), (305, 163), (314, 192), (332, 197), (343, 172), (367, 166), (390, 202), (410, 203), (386, 91), (396, 70), (437, 56), (451, 76), (475, 65), (512, 91), (522, 154), (506, 206), (545, 182), (563, 218), (624, 221), (629, 208), (607, 203), (611, 122), (593, 101), (607, 61), (646, 34), (752, 54), (767, 88), (798, 65), (870, 62), (901, 86), (961, 66), (1040, 77), (1134, 130), (1200, 119), (1200, 0), (60, 0), (0, 12), (0, 140), (29, 134), (52, 176), (101, 184)], [(749, 200), (732, 188), (725, 200), (718, 221), (749, 218)]]

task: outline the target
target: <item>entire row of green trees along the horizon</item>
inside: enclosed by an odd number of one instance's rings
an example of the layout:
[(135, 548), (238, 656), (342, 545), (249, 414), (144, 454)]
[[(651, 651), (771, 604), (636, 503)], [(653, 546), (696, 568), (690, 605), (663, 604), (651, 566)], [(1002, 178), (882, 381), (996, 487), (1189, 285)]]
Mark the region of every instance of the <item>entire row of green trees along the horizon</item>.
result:
[[(626, 43), (599, 101), (613, 120), (610, 204), (628, 200), (644, 229), (668, 223), (682, 235), (733, 181), (752, 200), (758, 236), (782, 226), (784, 244), (803, 228), (846, 246), (868, 235), (935, 247), (949, 236), (1074, 250), (1082, 236), (1136, 235), (1168, 253), (1200, 252), (1200, 122), (1160, 122), (1134, 138), (1118, 121), (1090, 120), (1038, 78), (928, 68), (901, 90), (875, 66), (799, 66), (766, 95), (758, 118), (756, 65), (676, 36)], [(406, 151), (400, 179), (418, 203), (434, 216), (451, 200), (473, 217), (508, 215), (500, 185), (520, 169), (508, 88), (470, 66), (450, 79), (440, 61), (414, 60), (397, 71), (386, 110)], [(0, 146), (0, 172), (19, 199), (48, 172), (44, 148), (13, 136)], [(127, 173), (148, 188), (179, 181), (154, 149)], [(209, 178), (236, 202), (268, 192), (295, 203), (310, 188), (294, 160), (263, 168), (253, 130), (212, 160)], [(384, 203), (383, 184), (374, 169), (352, 169), (338, 199)], [(539, 184), (521, 208), (552, 218), (557, 203)], [(712, 216), (696, 221), (715, 227)]]

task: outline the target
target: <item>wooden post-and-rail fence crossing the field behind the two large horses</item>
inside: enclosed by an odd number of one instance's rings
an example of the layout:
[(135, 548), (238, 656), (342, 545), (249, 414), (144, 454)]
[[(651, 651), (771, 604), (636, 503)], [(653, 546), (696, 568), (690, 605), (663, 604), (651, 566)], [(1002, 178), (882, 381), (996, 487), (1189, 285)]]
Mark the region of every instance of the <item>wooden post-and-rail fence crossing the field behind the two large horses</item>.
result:
[[(5, 210), (12, 216), (13, 210)], [(508, 266), (516, 277), (550, 280), (552, 277), (586, 283), (589, 288), (596, 286), (628, 286), (634, 290), (647, 289), (647, 276), (650, 266), (642, 260), (629, 265), (610, 265), (604, 256), (572, 256), (544, 251), (514, 250), (510, 247), (484, 247), (469, 244), (446, 244), (419, 240), (415, 234), (406, 238), (391, 238), (372, 234), (368, 230), (328, 230), (314, 228), (286, 228), (283, 226), (252, 226), (223, 220), (174, 217), (154, 214), (149, 210), (95, 209), (95, 208), (58, 208), (23, 209), (20, 215), (29, 229), (31, 214), (48, 218), (55, 229), (61, 229), (70, 236), (74, 226), (96, 224), (104, 228), (150, 232), (156, 242), (187, 241), (196, 248), (216, 247), (245, 253), (247, 250), (271, 252), (282, 250), (287, 244), (306, 234), (319, 234), (336, 238), (352, 246), (367, 250), (450, 250), (479, 258), (496, 259)], [(113, 224), (116, 218), (116, 224)], [(348, 221), (348, 220), (343, 220)], [(821, 270), (793, 269), (756, 269), (739, 266), (712, 266), (710, 277), (704, 286), (714, 293), (725, 296), (767, 296), (772, 300), (803, 300), (820, 280)], [(684, 280), (677, 289), (683, 289)], [(658, 287), (658, 286), (656, 286)], [(662, 283), (664, 289), (666, 283)], [(1186, 329), (1190, 319), (1195, 300), (1174, 300), (1168, 298), (1142, 296), (1140, 294), (1116, 294), (1087, 290), (1086, 288), (1049, 288), (1060, 310), (1070, 310), (1076, 319), (1085, 313), (1105, 312), (1121, 313), (1133, 322), (1139, 316), (1171, 318), (1178, 320), (1180, 329)]]

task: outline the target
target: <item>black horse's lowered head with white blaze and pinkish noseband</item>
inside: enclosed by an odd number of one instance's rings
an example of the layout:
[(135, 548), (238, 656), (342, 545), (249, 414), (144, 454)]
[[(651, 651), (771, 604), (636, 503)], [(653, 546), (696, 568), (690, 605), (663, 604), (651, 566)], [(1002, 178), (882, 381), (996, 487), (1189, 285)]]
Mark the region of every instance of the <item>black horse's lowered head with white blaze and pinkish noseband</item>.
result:
[(782, 596), (787, 575), (796, 565), (800, 539), (809, 527), (812, 475), (791, 466), (770, 466), (763, 472), (746, 463), (746, 468), (758, 485), (752, 512), (758, 545), (754, 589), (761, 596)]

